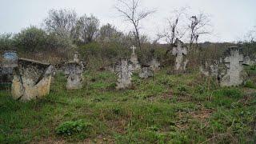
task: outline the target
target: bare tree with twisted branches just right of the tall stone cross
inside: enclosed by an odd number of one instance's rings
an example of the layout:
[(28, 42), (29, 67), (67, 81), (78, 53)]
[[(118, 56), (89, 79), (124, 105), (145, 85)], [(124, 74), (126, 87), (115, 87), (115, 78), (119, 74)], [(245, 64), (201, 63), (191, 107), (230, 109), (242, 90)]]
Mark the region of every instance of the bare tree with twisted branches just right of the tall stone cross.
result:
[(203, 34), (210, 34), (210, 18), (206, 14), (200, 13), (190, 17), (190, 49), (195, 44), (198, 47), (198, 38)]

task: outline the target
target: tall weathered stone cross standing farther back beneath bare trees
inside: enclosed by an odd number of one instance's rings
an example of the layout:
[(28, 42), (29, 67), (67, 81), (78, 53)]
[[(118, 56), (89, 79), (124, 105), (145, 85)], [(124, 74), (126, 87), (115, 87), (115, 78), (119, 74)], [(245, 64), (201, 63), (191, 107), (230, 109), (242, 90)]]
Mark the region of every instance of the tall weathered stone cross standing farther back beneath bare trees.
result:
[(184, 72), (186, 70), (186, 64), (188, 60), (186, 59), (187, 48), (183, 46), (183, 42), (176, 38), (172, 54), (176, 57), (175, 59), (175, 72)]

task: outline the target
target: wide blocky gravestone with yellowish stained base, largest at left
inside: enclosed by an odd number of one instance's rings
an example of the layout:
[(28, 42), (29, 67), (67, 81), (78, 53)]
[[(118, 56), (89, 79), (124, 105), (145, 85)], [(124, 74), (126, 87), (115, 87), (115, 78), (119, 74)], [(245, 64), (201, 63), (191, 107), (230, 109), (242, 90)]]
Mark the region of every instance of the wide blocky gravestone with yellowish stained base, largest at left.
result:
[(18, 59), (11, 86), (13, 98), (30, 101), (49, 94), (52, 69), (53, 66), (48, 63)]

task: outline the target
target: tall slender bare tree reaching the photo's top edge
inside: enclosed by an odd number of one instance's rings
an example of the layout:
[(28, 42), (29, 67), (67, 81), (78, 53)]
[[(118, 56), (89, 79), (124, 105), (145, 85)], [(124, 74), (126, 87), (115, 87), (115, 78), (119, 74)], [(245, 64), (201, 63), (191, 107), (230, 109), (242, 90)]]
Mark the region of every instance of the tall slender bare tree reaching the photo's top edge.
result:
[(134, 26), (134, 36), (137, 39), (139, 50), (142, 54), (142, 61), (144, 60), (142, 51), (142, 42), (140, 39), (139, 26), (142, 19), (148, 15), (153, 14), (155, 10), (139, 10), (140, 0), (118, 0), (118, 5), (115, 6), (116, 10), (121, 14), (126, 21)]

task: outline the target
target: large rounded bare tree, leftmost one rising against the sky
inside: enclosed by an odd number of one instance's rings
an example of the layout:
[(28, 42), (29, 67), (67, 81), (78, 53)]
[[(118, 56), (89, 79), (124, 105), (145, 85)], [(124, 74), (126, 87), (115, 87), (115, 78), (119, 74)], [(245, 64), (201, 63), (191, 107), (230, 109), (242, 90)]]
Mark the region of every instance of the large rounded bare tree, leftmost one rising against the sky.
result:
[(77, 14), (74, 10), (50, 10), (45, 19), (46, 30), (60, 38), (74, 38)]

